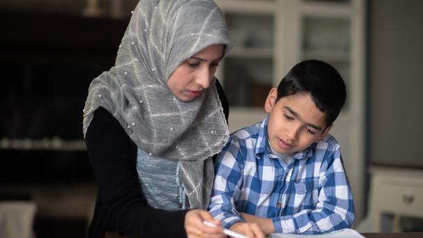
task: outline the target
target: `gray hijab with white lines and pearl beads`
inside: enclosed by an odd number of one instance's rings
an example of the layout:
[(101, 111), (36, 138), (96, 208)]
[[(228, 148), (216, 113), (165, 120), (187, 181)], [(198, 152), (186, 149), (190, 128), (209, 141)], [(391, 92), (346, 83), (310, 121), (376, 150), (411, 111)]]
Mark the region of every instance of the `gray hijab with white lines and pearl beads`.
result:
[(99, 107), (109, 111), (141, 150), (181, 162), (191, 207), (205, 208), (214, 179), (211, 157), (229, 131), (213, 79), (191, 102), (177, 99), (170, 74), (205, 47), (231, 48), (223, 14), (212, 0), (141, 0), (119, 46), (115, 66), (90, 84), (83, 134)]

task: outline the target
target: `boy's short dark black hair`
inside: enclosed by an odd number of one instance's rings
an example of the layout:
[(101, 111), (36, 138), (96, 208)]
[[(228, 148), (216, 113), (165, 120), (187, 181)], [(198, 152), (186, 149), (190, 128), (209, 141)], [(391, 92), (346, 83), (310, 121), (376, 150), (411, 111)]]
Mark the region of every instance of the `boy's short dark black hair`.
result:
[(278, 97), (310, 93), (317, 108), (326, 113), (326, 127), (332, 125), (346, 99), (346, 88), (341, 75), (324, 61), (308, 60), (296, 64), (278, 86)]

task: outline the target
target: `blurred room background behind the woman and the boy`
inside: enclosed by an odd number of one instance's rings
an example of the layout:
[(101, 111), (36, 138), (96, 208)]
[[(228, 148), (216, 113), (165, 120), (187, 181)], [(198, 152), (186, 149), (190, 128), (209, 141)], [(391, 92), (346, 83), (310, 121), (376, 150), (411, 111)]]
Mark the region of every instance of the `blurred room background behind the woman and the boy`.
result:
[[(230, 130), (266, 116), (269, 89), (298, 61), (331, 63), (347, 86), (331, 134), (356, 230), (423, 231), (423, 1), (216, 2), (234, 42), (216, 74)], [(113, 66), (136, 3), (0, 2), (0, 230), (22, 230), (10, 237), (86, 237), (96, 187), (83, 104), (90, 81)]]

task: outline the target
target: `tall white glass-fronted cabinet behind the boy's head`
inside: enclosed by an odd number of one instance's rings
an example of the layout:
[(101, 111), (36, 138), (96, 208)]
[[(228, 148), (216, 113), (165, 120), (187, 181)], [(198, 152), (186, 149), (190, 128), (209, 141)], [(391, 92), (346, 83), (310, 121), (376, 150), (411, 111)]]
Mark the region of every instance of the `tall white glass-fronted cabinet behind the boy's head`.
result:
[(230, 101), (230, 130), (261, 121), (264, 99), (292, 66), (316, 58), (337, 68), (347, 102), (331, 130), (341, 143), (357, 221), (364, 208), (363, 0), (217, 0), (225, 13), (232, 53), (218, 70)]

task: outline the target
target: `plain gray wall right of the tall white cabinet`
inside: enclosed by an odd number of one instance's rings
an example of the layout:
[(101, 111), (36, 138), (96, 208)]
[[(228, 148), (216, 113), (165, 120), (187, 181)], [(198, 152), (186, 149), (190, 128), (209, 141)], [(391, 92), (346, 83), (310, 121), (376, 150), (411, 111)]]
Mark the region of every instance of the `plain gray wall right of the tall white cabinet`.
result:
[(423, 168), (423, 1), (369, 1), (368, 162)]

